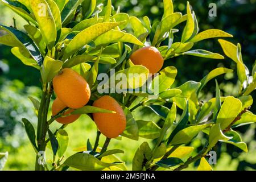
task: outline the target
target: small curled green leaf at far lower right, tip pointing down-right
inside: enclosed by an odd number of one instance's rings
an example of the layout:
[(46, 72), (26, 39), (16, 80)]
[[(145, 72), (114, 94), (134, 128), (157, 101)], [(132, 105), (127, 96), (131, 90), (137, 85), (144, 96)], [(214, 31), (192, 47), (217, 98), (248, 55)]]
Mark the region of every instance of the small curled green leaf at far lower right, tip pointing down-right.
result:
[(234, 146), (241, 148), (241, 150), (248, 152), (248, 148), (245, 142), (242, 142), (242, 138), (240, 134), (238, 134), (236, 131), (228, 131), (225, 133), (226, 136), (232, 137), (232, 139), (224, 141), (224, 143), (233, 144)]

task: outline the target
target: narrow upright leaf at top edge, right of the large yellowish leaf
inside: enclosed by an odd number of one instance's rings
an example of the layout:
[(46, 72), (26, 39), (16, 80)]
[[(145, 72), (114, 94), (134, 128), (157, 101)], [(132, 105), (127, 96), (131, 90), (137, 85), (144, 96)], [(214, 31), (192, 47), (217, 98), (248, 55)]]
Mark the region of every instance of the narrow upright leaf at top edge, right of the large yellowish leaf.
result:
[(47, 0), (49, 8), (52, 11), (52, 16), (55, 21), (56, 25), (56, 40), (59, 40), (60, 34), (61, 34), (61, 17), (60, 17), (60, 10), (55, 1), (53, 0)]

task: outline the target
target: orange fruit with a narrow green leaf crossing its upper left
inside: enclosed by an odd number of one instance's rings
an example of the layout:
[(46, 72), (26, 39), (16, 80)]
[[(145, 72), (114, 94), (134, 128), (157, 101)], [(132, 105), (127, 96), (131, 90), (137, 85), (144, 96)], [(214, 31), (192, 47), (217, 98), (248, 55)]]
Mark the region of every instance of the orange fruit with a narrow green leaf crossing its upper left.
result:
[(115, 111), (116, 113), (93, 113), (98, 130), (108, 138), (117, 138), (126, 128), (126, 116), (114, 98), (103, 96), (93, 102), (93, 106)]

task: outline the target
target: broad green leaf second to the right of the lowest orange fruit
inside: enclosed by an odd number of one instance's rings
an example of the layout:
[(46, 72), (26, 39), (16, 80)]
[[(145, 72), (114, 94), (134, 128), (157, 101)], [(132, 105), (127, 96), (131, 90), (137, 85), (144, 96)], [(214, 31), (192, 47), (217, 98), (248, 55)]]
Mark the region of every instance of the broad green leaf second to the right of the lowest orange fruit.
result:
[(152, 121), (136, 121), (139, 128), (139, 137), (155, 139), (160, 135), (160, 127)]

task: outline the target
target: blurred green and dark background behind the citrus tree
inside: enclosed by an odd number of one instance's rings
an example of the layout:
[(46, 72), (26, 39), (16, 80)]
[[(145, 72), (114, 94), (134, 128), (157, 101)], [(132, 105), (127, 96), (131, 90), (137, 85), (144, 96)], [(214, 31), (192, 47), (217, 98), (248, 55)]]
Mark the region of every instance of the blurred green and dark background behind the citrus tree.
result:
[[(102, 2), (105, 3), (105, 1)], [(218, 28), (234, 35), (234, 38), (229, 40), (235, 44), (241, 43), (243, 61), (251, 70), (256, 55), (256, 23), (253, 20), (256, 12), (256, 0), (191, 0), (189, 2), (199, 20), (200, 31)], [(185, 3), (186, 1), (174, 1), (175, 11), (185, 14)], [(208, 16), (209, 3), (216, 3), (217, 17), (210, 18)], [(160, 20), (163, 14), (163, 3), (158, 0), (116, 0), (113, 1), (113, 6), (115, 9), (119, 6), (122, 12), (138, 18), (147, 15), (151, 22)], [(15, 18), (19, 30), (23, 30), (23, 25), (26, 24), (22, 18), (15, 15), (13, 11), (3, 6), (2, 3), (0, 3), (0, 17), (0, 23), (7, 26), (13, 26), (13, 18)], [(184, 23), (180, 26), (183, 27)], [(180, 33), (175, 35), (174, 41), (177, 42), (179, 39)], [(223, 55), (217, 39), (197, 43), (196, 48), (207, 49)], [(16, 59), (11, 54), (10, 49), (10, 47), (0, 45), (0, 152), (9, 151), (9, 159), (4, 168), (5, 170), (32, 170), (34, 169), (35, 154), (20, 121), (21, 118), (26, 117), (34, 125), (36, 124), (36, 116), (27, 97), (40, 98), (40, 75), (36, 69), (27, 67)], [(216, 67), (223, 66), (236, 69), (236, 65), (228, 58), (225, 60), (208, 60), (192, 56), (179, 56), (175, 59), (167, 60), (166, 64), (174, 65), (178, 70), (176, 85), (188, 80), (200, 81), (201, 78)], [(223, 96), (236, 96), (234, 94), (237, 93), (236, 90), (238, 89), (236, 72), (220, 76), (217, 79), (221, 83), (220, 88)], [(204, 97), (212, 97), (214, 90), (214, 81), (210, 81), (203, 90)], [(256, 98), (255, 94), (254, 92), (253, 98)], [(251, 111), (255, 113), (255, 104)], [(146, 120), (146, 118), (143, 119)], [(55, 123), (53, 128), (58, 126), (59, 124)], [(243, 140), (249, 147), (248, 153), (226, 144), (216, 146), (218, 160), (217, 165), (213, 166), (213, 168), (216, 170), (256, 169), (255, 128), (256, 125), (248, 125), (239, 129)], [(69, 125), (66, 130), (69, 134), (69, 147), (65, 156), (75, 153), (75, 148), (85, 146), (88, 138), (94, 143), (96, 126), (89, 117), (81, 117), (79, 121)], [(195, 148), (200, 148), (201, 137), (203, 136), (199, 135), (191, 145)], [(101, 137), (101, 146), (104, 139), (104, 137)], [(133, 155), (142, 141), (139, 140), (137, 142), (126, 138), (112, 140), (109, 148), (125, 150), (125, 154), (120, 154), (118, 157), (127, 164), (128, 169), (131, 169)], [(47, 156), (50, 155), (48, 154)], [(195, 165), (198, 164), (196, 163)], [(189, 169), (193, 168), (195, 166), (191, 166)]]

